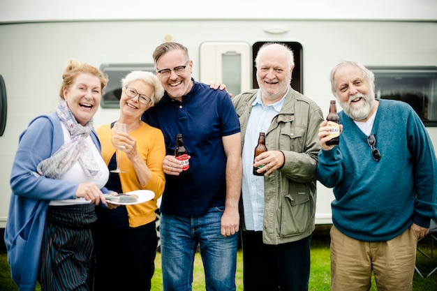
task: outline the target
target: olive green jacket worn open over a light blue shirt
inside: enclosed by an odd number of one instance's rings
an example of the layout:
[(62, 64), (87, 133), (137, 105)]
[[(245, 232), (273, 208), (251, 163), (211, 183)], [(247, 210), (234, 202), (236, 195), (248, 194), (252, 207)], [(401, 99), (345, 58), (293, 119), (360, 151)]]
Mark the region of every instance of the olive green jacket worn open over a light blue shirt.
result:
[[(258, 89), (253, 89), (232, 98), (242, 128), (242, 144), (257, 92)], [(314, 230), (318, 128), (322, 121), (320, 107), (290, 87), (281, 112), (265, 134), (267, 149), (280, 150), (286, 158), (281, 169), (264, 178), (262, 241), (265, 244), (297, 241)], [(240, 216), (244, 230), (243, 214)]]

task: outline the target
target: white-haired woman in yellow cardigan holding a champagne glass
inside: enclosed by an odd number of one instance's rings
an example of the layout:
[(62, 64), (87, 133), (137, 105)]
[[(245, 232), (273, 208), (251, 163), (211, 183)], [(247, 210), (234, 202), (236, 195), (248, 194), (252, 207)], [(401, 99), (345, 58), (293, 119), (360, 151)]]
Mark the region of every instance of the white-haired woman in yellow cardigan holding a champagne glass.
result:
[(154, 199), (141, 204), (96, 210), (96, 274), (94, 290), (150, 290), (156, 255), (156, 200), (165, 186), (163, 133), (140, 120), (149, 107), (163, 96), (161, 82), (154, 74), (133, 71), (121, 80), (120, 115), (117, 121), (97, 128), (102, 156), (110, 170), (117, 167), (111, 128), (117, 122), (128, 125), (128, 134), (119, 133), (120, 167), (124, 173), (110, 173), (106, 187), (117, 193), (150, 190)]

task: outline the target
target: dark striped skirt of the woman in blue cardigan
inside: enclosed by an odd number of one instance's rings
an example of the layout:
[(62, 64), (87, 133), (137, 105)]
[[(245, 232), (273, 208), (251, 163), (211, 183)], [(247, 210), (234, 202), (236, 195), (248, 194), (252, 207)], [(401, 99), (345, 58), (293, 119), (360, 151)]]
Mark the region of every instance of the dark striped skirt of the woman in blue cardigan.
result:
[(92, 203), (48, 207), (38, 269), (41, 291), (91, 290), (94, 207)]

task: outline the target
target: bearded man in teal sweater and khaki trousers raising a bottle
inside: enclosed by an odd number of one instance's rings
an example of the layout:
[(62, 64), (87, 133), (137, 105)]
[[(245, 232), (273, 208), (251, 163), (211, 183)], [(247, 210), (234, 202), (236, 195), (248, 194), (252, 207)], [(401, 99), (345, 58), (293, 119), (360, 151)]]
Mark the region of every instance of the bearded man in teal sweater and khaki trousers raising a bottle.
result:
[(373, 73), (342, 61), (331, 73), (338, 146), (320, 124), (317, 177), (334, 188), (331, 290), (412, 290), (417, 238), (437, 216), (437, 161), (408, 104), (375, 98)]

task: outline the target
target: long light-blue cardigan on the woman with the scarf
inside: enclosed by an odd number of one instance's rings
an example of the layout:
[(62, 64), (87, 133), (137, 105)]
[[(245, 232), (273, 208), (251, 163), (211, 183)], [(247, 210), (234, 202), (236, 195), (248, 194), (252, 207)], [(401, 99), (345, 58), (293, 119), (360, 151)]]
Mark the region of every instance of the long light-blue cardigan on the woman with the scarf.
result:
[[(96, 133), (91, 138), (101, 150)], [(20, 135), (10, 175), (12, 195), (4, 240), (10, 273), (20, 291), (34, 291), (45, 214), (50, 200), (75, 197), (78, 184), (72, 181), (36, 177), (40, 161), (49, 158), (64, 144), (64, 133), (56, 113), (36, 117)], [(108, 191), (103, 188), (102, 191)]]

